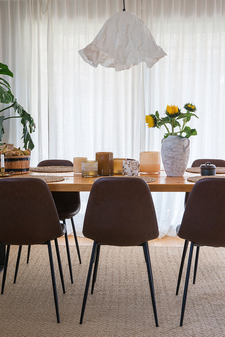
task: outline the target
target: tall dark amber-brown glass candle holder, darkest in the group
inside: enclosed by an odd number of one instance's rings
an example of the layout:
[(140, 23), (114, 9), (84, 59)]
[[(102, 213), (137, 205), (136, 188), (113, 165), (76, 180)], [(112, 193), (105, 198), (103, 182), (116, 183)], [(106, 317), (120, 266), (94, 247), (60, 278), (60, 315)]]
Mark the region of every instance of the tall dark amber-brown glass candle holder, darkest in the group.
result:
[(113, 176), (113, 152), (96, 152), (98, 176)]

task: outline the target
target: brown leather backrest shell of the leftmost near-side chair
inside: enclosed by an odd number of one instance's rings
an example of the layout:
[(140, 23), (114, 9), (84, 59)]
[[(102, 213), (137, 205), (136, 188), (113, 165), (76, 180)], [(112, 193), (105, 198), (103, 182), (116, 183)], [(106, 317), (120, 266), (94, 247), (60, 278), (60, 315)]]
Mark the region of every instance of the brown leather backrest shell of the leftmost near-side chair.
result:
[(1, 243), (42, 244), (64, 234), (51, 192), (42, 179), (4, 178), (0, 191)]

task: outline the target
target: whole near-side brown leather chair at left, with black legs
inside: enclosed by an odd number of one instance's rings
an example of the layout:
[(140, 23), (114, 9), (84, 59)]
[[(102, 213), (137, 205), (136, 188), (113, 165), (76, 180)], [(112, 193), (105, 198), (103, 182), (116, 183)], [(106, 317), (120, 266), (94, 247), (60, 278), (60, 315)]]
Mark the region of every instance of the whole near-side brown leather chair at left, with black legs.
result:
[[(1, 294), (4, 292), (10, 245), (48, 246), (52, 286), (57, 322), (59, 323), (58, 297), (52, 259), (51, 240), (55, 241), (63, 292), (65, 293), (61, 260), (57, 238), (66, 232), (65, 224), (60, 224), (55, 204), (48, 185), (38, 178), (5, 178), (0, 180), (0, 189), (6, 205), (13, 205), (12, 213), (2, 212), (0, 222), (0, 244), (7, 245), (2, 278)], [(21, 198), (22, 193), (22, 198)], [(21, 210), (26, 206), (29, 216)]]

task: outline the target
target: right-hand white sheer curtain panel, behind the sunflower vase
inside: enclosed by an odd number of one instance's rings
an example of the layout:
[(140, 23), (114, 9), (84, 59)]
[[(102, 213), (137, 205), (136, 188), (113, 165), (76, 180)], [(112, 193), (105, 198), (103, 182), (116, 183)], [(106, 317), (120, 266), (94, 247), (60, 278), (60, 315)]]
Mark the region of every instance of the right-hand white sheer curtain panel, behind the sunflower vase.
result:
[[(146, 114), (167, 104), (193, 102), (197, 136), (190, 138), (189, 165), (197, 158), (225, 158), (225, 1), (143, 0), (142, 19), (168, 56), (144, 67)], [(145, 130), (145, 150), (160, 151), (165, 129)], [(152, 193), (160, 236), (175, 236), (184, 193)]]

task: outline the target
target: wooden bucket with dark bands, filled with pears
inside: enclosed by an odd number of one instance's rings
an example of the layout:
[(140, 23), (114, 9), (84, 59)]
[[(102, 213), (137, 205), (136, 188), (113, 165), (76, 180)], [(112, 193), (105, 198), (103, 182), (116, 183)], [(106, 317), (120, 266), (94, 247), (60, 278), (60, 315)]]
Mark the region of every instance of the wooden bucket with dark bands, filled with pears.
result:
[(21, 150), (20, 147), (7, 149), (6, 146), (0, 151), (0, 154), (4, 154), (5, 161), (5, 173), (14, 171), (14, 174), (24, 174), (30, 171), (30, 149)]

